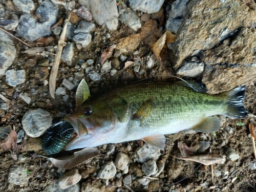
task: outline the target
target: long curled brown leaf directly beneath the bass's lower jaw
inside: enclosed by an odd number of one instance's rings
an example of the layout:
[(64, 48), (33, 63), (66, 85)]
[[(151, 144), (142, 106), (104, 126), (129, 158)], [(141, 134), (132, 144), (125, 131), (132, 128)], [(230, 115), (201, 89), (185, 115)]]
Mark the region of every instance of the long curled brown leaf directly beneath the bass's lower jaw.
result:
[(79, 152), (75, 152), (74, 155), (71, 155), (68, 157), (62, 157), (62, 158), (51, 158), (51, 157), (49, 158), (45, 156), (40, 156), (40, 157), (45, 157), (49, 159), (55, 166), (59, 168), (72, 168), (84, 161), (87, 161), (99, 155), (100, 153), (97, 150), (97, 148), (87, 147)]

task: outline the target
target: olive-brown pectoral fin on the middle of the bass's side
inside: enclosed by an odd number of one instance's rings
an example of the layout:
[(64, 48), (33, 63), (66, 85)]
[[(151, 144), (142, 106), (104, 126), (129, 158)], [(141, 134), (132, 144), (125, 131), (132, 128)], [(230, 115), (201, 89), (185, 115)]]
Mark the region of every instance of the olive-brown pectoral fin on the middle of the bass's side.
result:
[(148, 116), (150, 116), (154, 110), (152, 101), (153, 98), (150, 98), (143, 102), (137, 113), (133, 115), (133, 119), (138, 119), (140, 123), (142, 123)]

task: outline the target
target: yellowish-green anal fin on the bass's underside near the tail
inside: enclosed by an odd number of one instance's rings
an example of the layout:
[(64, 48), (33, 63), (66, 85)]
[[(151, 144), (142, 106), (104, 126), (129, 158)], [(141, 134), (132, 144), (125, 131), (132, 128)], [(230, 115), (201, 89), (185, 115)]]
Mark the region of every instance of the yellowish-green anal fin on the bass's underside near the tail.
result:
[(218, 117), (206, 117), (191, 129), (203, 133), (212, 133), (220, 129), (221, 123)]

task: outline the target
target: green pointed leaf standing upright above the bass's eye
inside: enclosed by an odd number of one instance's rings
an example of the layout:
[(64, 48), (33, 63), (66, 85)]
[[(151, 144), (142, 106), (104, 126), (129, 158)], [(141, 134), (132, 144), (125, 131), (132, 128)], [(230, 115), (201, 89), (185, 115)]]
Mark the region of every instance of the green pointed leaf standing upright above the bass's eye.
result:
[(76, 90), (76, 107), (80, 106), (90, 96), (90, 89), (86, 80), (82, 79)]

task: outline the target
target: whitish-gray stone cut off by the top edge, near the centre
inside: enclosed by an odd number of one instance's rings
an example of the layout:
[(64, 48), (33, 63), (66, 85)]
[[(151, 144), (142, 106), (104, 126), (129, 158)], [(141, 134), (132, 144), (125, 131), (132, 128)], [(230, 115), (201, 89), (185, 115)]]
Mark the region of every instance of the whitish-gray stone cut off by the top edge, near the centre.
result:
[(145, 13), (156, 13), (160, 11), (164, 0), (130, 0), (129, 3), (130, 7), (135, 11), (140, 10)]

